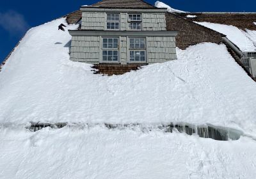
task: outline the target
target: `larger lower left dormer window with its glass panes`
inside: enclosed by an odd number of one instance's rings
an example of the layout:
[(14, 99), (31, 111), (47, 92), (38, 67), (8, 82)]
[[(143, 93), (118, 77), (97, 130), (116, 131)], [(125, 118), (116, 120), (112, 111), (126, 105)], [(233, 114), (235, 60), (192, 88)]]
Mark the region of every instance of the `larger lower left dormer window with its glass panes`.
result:
[(118, 61), (118, 38), (102, 38), (102, 61)]

